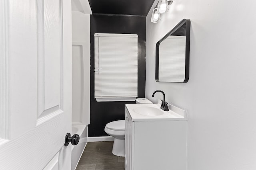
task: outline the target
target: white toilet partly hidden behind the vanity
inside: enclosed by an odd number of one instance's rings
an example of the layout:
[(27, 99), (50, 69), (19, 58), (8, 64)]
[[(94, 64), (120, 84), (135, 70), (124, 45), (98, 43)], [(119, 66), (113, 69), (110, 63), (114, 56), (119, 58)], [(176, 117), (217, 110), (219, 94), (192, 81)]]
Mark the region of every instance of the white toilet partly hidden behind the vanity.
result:
[[(136, 99), (136, 104), (152, 104), (146, 98)], [(105, 126), (105, 132), (114, 137), (112, 153), (124, 157), (125, 120), (112, 121)]]

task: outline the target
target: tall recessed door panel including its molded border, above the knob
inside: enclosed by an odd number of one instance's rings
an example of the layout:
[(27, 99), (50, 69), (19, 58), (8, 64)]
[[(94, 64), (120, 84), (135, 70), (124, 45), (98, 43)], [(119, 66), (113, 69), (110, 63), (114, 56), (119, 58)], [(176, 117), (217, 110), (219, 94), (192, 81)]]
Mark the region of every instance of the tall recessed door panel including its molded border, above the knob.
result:
[[(38, 0), (38, 118), (62, 111), (60, 69), (62, 65), (60, 27), (60, 0)], [(42, 47), (41, 47), (42, 45)]]

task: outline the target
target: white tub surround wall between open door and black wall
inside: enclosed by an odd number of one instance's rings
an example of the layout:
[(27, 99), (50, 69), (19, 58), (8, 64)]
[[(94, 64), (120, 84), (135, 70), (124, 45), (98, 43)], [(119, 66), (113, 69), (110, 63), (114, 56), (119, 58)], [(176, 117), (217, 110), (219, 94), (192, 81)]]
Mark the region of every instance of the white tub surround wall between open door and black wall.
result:
[(72, 124), (90, 124), (90, 14), (72, 11)]

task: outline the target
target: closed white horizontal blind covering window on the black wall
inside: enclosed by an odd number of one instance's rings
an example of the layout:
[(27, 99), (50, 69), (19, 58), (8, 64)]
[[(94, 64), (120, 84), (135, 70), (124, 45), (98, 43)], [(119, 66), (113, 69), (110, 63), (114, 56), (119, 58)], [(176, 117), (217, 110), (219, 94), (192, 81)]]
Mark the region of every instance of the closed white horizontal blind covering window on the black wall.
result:
[(138, 96), (138, 35), (94, 34), (94, 97), (98, 102)]

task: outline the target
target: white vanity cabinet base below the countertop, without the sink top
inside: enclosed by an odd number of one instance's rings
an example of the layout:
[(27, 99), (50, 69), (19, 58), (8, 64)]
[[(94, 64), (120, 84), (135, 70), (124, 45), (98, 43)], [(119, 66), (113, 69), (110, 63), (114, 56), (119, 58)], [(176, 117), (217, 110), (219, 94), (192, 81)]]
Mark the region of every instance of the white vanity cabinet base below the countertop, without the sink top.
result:
[(126, 107), (125, 169), (186, 170), (187, 121), (142, 121)]

